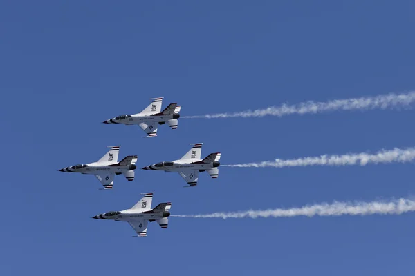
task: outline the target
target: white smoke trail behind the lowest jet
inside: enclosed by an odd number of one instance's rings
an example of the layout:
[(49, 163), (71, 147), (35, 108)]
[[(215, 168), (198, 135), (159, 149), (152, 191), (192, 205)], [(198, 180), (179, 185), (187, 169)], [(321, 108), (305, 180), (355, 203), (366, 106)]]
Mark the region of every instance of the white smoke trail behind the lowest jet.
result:
[(337, 217), (341, 215), (401, 215), (415, 211), (415, 201), (410, 199), (398, 199), (394, 201), (372, 201), (372, 202), (337, 202), (333, 204), (316, 204), (301, 208), (270, 209), (270, 210), (248, 210), (232, 213), (212, 213), (207, 215), (172, 215), (172, 217), (196, 217), (196, 218), (221, 218), (242, 219), (249, 217)]

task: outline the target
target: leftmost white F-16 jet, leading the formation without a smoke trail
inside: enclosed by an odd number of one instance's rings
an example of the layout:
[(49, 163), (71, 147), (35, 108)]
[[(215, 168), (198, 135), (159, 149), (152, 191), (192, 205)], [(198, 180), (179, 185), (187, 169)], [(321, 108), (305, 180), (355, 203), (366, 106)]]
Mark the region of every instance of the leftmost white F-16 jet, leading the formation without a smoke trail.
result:
[(109, 146), (110, 150), (98, 161), (90, 164), (80, 164), (62, 168), (61, 172), (80, 172), (95, 175), (104, 185), (104, 189), (112, 189), (115, 175), (124, 175), (128, 181), (134, 180), (134, 170), (137, 168), (137, 155), (129, 155), (118, 162), (120, 146)]

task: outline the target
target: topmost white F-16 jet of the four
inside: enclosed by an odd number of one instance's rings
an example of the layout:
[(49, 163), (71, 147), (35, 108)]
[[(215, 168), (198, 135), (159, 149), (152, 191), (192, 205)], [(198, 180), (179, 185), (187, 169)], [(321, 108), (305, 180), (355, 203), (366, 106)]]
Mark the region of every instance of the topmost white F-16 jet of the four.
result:
[(140, 113), (121, 115), (113, 119), (108, 119), (103, 123), (138, 125), (147, 133), (146, 137), (156, 137), (159, 125), (167, 124), (170, 128), (176, 129), (178, 126), (178, 118), (180, 117), (178, 112), (180, 112), (181, 106), (178, 106), (177, 103), (170, 103), (167, 108), (161, 111), (163, 97), (152, 98), (152, 100), (153, 102)]

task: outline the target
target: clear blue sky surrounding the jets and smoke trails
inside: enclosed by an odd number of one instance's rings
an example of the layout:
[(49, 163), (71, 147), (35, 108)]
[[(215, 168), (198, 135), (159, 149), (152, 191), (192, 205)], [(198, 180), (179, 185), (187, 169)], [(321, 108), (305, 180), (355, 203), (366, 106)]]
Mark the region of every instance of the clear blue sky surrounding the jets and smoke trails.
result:
[(0, 91), (1, 275), (411, 275), (415, 214), (289, 219), (170, 219), (132, 239), (90, 217), (139, 193), (172, 213), (289, 208), (406, 197), (414, 165), (221, 168), (182, 188), (138, 170), (98, 190), (59, 168), (121, 145), (138, 167), (189, 143), (223, 164), (414, 146), (414, 111), (262, 119), (181, 119), (144, 139), (100, 124), (150, 97), (182, 115), (415, 89), (413, 1), (3, 1)]

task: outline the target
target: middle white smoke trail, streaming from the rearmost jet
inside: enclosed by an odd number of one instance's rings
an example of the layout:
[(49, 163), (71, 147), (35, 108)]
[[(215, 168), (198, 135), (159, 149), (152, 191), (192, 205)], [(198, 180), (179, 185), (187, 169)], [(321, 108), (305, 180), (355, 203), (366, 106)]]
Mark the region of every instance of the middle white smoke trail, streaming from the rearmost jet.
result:
[(264, 167), (299, 167), (299, 166), (351, 166), (367, 164), (387, 164), (392, 162), (406, 163), (415, 159), (415, 148), (394, 148), (381, 150), (373, 155), (367, 152), (351, 153), (348, 155), (321, 155), (319, 157), (303, 157), (299, 159), (275, 159), (275, 161), (261, 161), (258, 163), (221, 165), (225, 167), (264, 168)]

